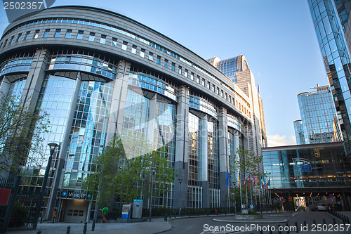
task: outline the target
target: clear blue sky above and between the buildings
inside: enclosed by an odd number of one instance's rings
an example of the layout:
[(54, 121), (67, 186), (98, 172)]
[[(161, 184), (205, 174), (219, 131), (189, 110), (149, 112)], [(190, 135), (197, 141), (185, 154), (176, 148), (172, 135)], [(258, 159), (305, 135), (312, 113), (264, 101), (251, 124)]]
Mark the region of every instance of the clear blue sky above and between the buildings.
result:
[[(78, 1), (121, 13), (207, 59), (244, 54), (260, 83), (268, 145), (295, 143), (298, 93), (328, 84), (307, 0)], [(0, 9), (0, 32), (8, 25)]]

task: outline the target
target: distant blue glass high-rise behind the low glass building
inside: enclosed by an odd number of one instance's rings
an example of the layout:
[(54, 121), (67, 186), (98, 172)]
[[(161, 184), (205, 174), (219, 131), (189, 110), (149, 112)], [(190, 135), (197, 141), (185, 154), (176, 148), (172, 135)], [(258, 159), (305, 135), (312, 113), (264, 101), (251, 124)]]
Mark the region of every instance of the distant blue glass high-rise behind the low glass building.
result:
[(298, 94), (301, 120), (293, 122), (296, 143), (314, 144), (343, 141), (338, 136), (340, 124), (329, 86), (312, 88), (315, 91)]

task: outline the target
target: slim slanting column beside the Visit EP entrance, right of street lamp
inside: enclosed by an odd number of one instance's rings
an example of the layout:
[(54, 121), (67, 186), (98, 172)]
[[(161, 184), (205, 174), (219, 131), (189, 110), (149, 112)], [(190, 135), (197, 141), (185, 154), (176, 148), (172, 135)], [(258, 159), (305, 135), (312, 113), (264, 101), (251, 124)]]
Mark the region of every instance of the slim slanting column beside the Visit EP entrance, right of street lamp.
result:
[[(68, 78), (67, 78), (68, 79)], [(65, 174), (65, 160), (67, 158), (67, 150), (68, 150), (68, 143), (69, 143), (69, 135), (71, 134), (72, 130), (72, 122), (74, 118), (74, 112), (76, 111), (77, 100), (79, 96), (79, 90), (81, 89), (81, 76), (80, 72), (77, 74), (76, 84), (74, 86), (74, 93), (71, 100), (71, 107), (69, 108), (69, 115), (67, 118), (67, 125), (65, 129), (65, 135), (63, 136), (63, 141), (58, 143), (60, 145), (60, 152), (59, 158), (56, 162), (56, 169), (55, 174), (53, 177), (53, 184), (51, 186), (51, 192), (48, 200), (48, 209), (46, 211), (46, 220), (51, 220), (53, 217), (53, 212), (55, 210), (55, 202), (56, 197), (58, 195), (58, 188), (60, 187), (60, 179), (63, 174)], [(58, 211), (58, 214), (60, 211)]]

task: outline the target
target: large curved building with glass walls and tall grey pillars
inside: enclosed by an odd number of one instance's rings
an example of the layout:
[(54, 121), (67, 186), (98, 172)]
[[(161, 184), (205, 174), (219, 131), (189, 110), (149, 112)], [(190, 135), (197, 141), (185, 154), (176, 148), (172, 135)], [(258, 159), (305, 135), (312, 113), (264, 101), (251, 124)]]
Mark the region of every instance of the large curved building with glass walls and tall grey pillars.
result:
[[(167, 145), (183, 178), (154, 195), (154, 207), (227, 207), (227, 167), (236, 149), (261, 152), (257, 93), (176, 41), (111, 11), (60, 6), (11, 22), (0, 41), (0, 79), (2, 93), (48, 113), (45, 143), (60, 145), (46, 219), (54, 210), (60, 221), (93, 219), (98, 193), (83, 181), (124, 129), (147, 135), (155, 148)], [(47, 150), (39, 166), (22, 165), (21, 190), (40, 190), (48, 156)]]

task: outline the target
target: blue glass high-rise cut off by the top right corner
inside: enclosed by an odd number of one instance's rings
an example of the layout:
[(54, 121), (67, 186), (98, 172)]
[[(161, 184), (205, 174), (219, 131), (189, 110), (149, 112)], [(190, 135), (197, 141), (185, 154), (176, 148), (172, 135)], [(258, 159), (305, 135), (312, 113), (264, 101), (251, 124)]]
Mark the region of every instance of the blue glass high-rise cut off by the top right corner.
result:
[(336, 105), (347, 157), (351, 157), (350, 8), (348, 0), (307, 0)]

